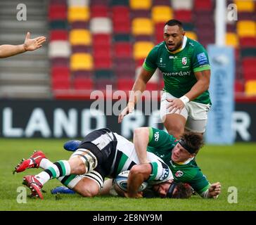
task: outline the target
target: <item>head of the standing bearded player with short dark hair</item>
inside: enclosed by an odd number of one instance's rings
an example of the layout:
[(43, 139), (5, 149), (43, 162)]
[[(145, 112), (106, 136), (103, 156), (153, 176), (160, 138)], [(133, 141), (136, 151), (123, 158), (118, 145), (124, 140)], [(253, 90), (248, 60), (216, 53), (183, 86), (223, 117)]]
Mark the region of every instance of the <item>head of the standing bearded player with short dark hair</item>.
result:
[(176, 51), (183, 43), (184, 30), (179, 20), (168, 20), (164, 27), (164, 40), (169, 51)]

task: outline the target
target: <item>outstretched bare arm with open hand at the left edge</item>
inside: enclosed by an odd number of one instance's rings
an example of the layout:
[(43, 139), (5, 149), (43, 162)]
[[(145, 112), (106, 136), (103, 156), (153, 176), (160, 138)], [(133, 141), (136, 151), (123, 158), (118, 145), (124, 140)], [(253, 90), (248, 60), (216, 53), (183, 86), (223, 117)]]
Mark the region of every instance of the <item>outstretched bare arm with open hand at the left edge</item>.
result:
[(9, 56), (15, 56), (25, 51), (34, 51), (41, 48), (42, 44), (46, 41), (46, 37), (36, 37), (30, 39), (30, 32), (27, 32), (24, 44), (12, 45), (3, 44), (0, 46), (0, 58), (6, 58)]

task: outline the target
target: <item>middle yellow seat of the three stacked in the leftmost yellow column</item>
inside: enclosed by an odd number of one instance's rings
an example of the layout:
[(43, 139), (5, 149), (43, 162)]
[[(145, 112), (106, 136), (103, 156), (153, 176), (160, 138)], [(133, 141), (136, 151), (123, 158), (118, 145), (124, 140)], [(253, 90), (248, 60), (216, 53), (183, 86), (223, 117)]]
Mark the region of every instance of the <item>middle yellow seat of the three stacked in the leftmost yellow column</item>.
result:
[(70, 30), (70, 44), (91, 45), (91, 32), (89, 30)]

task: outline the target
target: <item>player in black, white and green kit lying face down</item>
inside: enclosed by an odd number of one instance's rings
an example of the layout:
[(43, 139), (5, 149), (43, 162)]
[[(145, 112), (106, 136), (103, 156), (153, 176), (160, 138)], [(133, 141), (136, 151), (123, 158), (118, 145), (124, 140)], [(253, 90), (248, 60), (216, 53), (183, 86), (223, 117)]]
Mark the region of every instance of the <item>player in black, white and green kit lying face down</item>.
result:
[(84, 197), (92, 197), (100, 193), (105, 177), (115, 178), (124, 170), (130, 170), (126, 197), (141, 198), (142, 193), (138, 189), (143, 181), (154, 186), (160, 197), (172, 196), (169, 191), (173, 189), (174, 182), (169, 167), (153, 153), (148, 153), (147, 157), (149, 163), (138, 165), (132, 142), (109, 129), (98, 129), (84, 138), (70, 160), (52, 163), (38, 151), (15, 167), (15, 172), (35, 167), (44, 169), (37, 175), (23, 178), (23, 184), (30, 188), (32, 195), (41, 199), (41, 188), (50, 179), (58, 178)]

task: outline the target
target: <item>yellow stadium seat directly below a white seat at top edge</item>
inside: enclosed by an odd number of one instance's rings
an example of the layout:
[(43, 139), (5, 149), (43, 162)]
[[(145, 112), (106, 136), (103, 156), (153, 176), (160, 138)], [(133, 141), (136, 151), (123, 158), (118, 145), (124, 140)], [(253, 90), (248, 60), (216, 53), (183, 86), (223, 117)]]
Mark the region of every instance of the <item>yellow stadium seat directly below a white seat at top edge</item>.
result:
[(89, 20), (89, 8), (87, 6), (78, 7), (71, 6), (68, 7), (68, 22), (72, 23), (75, 21), (83, 21), (86, 22)]

